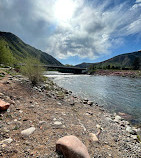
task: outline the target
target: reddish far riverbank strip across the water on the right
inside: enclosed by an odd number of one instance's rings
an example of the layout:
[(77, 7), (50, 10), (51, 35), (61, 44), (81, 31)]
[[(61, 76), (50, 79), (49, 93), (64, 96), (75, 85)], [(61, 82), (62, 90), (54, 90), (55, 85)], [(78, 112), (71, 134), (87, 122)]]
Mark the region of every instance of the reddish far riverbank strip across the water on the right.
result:
[(91, 75), (141, 77), (141, 70), (95, 70)]

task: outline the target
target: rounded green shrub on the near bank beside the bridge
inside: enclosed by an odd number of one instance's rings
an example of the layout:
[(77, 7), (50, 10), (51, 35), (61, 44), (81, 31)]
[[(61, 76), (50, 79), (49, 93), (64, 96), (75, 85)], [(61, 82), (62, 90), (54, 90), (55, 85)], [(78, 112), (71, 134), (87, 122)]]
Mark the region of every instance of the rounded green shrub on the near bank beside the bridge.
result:
[(36, 85), (43, 81), (43, 67), (42, 63), (37, 58), (28, 57), (23, 61), (20, 71), (23, 75), (27, 76), (32, 85)]

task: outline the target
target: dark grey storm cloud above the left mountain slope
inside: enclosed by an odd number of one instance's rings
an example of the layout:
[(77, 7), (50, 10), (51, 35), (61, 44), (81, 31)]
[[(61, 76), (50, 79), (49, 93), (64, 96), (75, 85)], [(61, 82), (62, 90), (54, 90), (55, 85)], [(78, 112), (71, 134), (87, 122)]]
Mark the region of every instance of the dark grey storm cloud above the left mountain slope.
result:
[(25, 42), (43, 49), (38, 42), (39, 39), (43, 39), (48, 34), (47, 30), (50, 24), (36, 13), (36, 2), (31, 0), (1, 0), (0, 30), (12, 32)]

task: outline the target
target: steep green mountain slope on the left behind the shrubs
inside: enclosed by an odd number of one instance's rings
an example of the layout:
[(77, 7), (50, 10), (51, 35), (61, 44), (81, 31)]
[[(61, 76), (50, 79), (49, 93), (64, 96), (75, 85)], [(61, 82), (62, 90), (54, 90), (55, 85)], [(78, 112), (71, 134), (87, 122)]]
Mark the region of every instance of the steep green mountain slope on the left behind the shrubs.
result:
[(18, 62), (30, 56), (39, 57), (40, 61), (47, 65), (62, 66), (51, 55), (24, 43), (19, 37), (9, 32), (0, 32), (0, 47), (4, 47), (7, 51), (11, 52)]

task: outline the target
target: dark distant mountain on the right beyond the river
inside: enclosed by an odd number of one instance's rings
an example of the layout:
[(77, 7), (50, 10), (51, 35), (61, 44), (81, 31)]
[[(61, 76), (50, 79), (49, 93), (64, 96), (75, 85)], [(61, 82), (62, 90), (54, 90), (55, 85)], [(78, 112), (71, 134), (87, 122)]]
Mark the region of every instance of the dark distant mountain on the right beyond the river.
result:
[(110, 58), (108, 60), (99, 62), (99, 63), (82, 63), (77, 66), (79, 67), (93, 67), (93, 68), (129, 68), (131, 69), (133, 67), (133, 64), (135, 60), (138, 59), (139, 64), (141, 66), (141, 50), (132, 52), (132, 53), (126, 53), (121, 54), (118, 56), (115, 56), (113, 58)]

